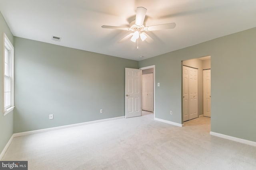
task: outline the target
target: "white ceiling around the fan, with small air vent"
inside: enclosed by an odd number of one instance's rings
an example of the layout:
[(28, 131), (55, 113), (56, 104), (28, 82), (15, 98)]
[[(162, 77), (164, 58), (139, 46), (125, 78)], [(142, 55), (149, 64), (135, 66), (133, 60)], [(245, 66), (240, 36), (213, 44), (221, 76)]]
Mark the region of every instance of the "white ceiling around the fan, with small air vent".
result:
[[(176, 27), (147, 32), (139, 49), (118, 43), (130, 32), (101, 27), (128, 27), (138, 6), (146, 26)], [(256, 0), (0, 0), (0, 11), (14, 36), (137, 61), (256, 27)]]

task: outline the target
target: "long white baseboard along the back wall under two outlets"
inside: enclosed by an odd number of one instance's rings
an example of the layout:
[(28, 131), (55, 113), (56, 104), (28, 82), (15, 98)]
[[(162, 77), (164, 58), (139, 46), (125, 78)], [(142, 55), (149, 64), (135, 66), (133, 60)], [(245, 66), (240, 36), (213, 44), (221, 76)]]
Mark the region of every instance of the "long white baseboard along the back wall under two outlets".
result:
[(120, 117), (113, 117), (113, 118), (109, 118), (109, 119), (100, 119), (100, 120), (95, 120), (95, 121), (87, 121), (87, 122), (83, 122), (83, 123), (76, 123), (76, 124), (72, 124), (72, 125), (51, 127), (51, 128), (47, 128), (47, 129), (39, 129), (39, 130), (35, 130), (35, 131), (26, 131), (26, 132), (14, 133), (13, 137), (31, 135), (31, 134), (35, 134), (35, 133), (42, 133), (42, 132), (48, 132), (48, 131), (55, 131), (55, 130), (59, 130), (59, 129), (69, 128), (69, 127), (76, 127), (76, 126), (88, 125), (88, 124), (92, 124), (92, 123), (100, 123), (100, 122), (104, 122), (104, 121), (123, 119), (123, 118), (124, 118), (124, 116), (120, 116)]

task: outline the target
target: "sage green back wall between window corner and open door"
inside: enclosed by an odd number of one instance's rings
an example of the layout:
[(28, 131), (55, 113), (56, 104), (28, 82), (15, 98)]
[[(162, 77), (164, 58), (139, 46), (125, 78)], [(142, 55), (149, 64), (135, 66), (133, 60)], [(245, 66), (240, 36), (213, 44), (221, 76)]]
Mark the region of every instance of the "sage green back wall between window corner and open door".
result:
[(124, 116), (125, 67), (138, 61), (19, 37), (14, 45), (14, 133)]

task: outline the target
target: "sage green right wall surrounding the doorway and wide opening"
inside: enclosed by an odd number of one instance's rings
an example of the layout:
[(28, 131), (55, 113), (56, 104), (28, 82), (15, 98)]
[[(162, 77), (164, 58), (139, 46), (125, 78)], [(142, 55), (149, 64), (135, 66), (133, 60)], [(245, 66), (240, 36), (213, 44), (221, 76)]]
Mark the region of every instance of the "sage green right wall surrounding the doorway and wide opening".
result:
[(182, 123), (181, 61), (209, 55), (211, 131), (256, 141), (256, 28), (139, 61), (155, 65), (156, 117)]

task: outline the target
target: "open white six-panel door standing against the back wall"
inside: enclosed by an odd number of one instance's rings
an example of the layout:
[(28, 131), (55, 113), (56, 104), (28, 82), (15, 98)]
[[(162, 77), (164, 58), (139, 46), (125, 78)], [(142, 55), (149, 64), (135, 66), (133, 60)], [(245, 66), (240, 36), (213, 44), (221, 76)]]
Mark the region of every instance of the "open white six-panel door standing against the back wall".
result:
[(141, 116), (141, 70), (125, 68), (125, 117)]

